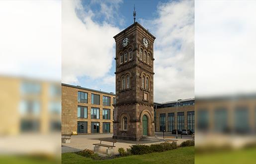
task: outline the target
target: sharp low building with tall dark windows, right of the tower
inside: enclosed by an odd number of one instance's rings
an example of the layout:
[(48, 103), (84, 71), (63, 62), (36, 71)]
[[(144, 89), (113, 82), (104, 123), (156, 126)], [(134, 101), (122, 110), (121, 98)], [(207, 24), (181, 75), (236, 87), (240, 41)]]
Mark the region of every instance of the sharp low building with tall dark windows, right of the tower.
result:
[[(195, 99), (183, 99), (165, 103), (154, 103), (157, 132), (171, 132), (177, 129), (195, 131)], [(176, 108), (177, 105), (177, 108)], [(177, 112), (176, 112), (177, 111)]]

